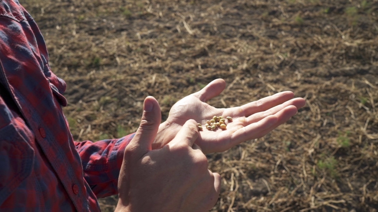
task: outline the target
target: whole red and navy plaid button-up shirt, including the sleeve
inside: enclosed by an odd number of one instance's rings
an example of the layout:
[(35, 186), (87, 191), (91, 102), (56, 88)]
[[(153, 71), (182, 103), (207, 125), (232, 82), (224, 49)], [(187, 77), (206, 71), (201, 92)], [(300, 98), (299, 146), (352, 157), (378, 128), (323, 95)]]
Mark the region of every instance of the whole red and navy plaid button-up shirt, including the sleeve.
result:
[(0, 0), (0, 84), (0, 211), (99, 211), (97, 198), (118, 193), (133, 135), (73, 141), (66, 84), (18, 0)]

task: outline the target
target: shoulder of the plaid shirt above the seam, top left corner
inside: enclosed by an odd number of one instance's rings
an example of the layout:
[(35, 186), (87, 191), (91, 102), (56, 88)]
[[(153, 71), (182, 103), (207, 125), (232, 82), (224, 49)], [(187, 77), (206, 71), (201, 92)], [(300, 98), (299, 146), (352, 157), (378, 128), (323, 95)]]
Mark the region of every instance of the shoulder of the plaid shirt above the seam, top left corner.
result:
[(20, 5), (18, 0), (0, 0), (0, 18), (8, 17), (17, 22), (31, 21), (33, 18)]

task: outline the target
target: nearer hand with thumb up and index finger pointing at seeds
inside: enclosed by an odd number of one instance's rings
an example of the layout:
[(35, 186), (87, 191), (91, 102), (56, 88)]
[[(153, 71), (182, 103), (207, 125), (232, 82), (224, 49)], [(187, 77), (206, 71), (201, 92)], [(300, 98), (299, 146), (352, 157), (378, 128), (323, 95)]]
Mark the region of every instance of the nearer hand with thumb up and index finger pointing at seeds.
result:
[(160, 121), (157, 101), (147, 97), (139, 129), (125, 149), (116, 211), (209, 211), (218, 200), (220, 176), (209, 171), (206, 156), (192, 148), (197, 123), (184, 121), (168, 144), (151, 150)]

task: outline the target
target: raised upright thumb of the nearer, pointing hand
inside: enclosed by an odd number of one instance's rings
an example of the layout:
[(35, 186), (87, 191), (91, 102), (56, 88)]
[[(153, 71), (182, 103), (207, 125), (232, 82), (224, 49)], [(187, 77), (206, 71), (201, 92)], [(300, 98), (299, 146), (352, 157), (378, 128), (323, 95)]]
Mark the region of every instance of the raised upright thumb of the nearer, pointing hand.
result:
[(139, 128), (136, 130), (133, 139), (127, 149), (132, 151), (132, 157), (143, 157), (151, 150), (151, 144), (155, 140), (161, 122), (161, 111), (158, 101), (149, 96), (143, 103), (143, 115)]

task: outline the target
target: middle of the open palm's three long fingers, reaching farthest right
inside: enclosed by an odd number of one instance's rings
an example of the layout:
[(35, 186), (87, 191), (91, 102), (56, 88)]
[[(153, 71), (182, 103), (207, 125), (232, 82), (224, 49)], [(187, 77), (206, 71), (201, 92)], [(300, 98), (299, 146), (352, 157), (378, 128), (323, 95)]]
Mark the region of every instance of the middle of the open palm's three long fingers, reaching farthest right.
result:
[(290, 105), (295, 106), (297, 109), (302, 108), (305, 105), (305, 103), (306, 102), (303, 98), (294, 98), (292, 100), (279, 104), (271, 109), (268, 109), (267, 111), (262, 111), (262, 112), (258, 112), (256, 114), (250, 115), (249, 117), (246, 118), (246, 125), (260, 121), (269, 115), (274, 115), (277, 112), (281, 111), (282, 109)]

